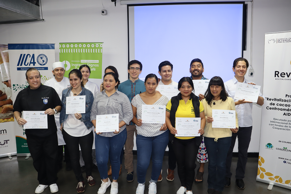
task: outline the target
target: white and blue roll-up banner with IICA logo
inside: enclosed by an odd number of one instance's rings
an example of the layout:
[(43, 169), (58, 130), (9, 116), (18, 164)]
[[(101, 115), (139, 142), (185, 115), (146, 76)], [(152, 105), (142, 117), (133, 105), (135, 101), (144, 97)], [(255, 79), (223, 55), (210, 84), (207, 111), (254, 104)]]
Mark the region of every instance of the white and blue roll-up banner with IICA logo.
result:
[[(18, 92), (29, 86), (25, 76), (29, 68), (34, 67), (40, 72), (42, 84), (53, 77), (54, 47), (54, 44), (8, 44), (13, 102)], [(28, 156), (25, 129), (14, 123), (17, 156)]]

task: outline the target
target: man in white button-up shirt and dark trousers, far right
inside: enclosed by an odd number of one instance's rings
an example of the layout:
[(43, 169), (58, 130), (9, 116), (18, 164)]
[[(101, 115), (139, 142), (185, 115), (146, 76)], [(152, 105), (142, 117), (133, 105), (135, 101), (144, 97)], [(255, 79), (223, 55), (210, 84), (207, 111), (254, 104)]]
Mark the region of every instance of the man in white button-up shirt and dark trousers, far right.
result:
[[(248, 160), (248, 149), (251, 141), (251, 134), (253, 129), (253, 118), (252, 118), (252, 108), (253, 102), (246, 101), (244, 99), (237, 100), (234, 99), (235, 90), (237, 83), (248, 83), (255, 85), (245, 79), (245, 74), (247, 68), (249, 67), (249, 62), (245, 58), (237, 58), (233, 62), (233, 72), (235, 76), (233, 79), (228, 80), (224, 83), (225, 90), (228, 93), (228, 96), (233, 98), (235, 102), (235, 110), (237, 111), (238, 125), (239, 130), (236, 134), (233, 133), (231, 138), (230, 148), (226, 157), (226, 178), (225, 185), (226, 187), (230, 186), (230, 178), (232, 173), (230, 172), (231, 160), (233, 147), (235, 145), (235, 140), (238, 138), (238, 160), (237, 168), (235, 172), (236, 185), (239, 189), (244, 189), (244, 173), (246, 171), (246, 162)], [(259, 94), (257, 104), (262, 106), (264, 104), (263, 95)]]

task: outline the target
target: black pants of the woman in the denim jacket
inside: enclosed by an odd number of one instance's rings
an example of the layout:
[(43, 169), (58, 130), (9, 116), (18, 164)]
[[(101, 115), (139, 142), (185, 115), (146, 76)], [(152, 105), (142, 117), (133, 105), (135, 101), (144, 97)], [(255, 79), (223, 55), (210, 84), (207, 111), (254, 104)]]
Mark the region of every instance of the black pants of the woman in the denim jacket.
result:
[(70, 136), (64, 130), (63, 137), (69, 149), (71, 164), (72, 164), (72, 168), (74, 170), (76, 179), (78, 182), (84, 181), (84, 177), (82, 175), (81, 166), (79, 162), (80, 160), (79, 144), (81, 147), (81, 152), (82, 152), (83, 160), (85, 163), (86, 176), (91, 176), (92, 175), (93, 132), (85, 136), (74, 137), (74, 136)]

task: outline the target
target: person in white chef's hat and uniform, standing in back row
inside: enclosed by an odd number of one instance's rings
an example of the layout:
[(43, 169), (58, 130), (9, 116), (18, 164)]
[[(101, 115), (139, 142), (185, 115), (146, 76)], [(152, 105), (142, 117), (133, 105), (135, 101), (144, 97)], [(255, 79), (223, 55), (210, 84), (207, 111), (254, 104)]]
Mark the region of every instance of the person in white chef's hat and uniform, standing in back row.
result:
[[(47, 80), (44, 85), (54, 88), (56, 92), (58, 93), (58, 96), (60, 97), (60, 99), (62, 99), (63, 89), (71, 86), (69, 78), (64, 77), (65, 65), (62, 62), (53, 63), (52, 73), (54, 77), (52, 79)], [(55, 116), (56, 127), (58, 129), (58, 132), (57, 132), (58, 134), (58, 170), (62, 168), (63, 146), (64, 146), (64, 151), (65, 151), (66, 170), (72, 170), (69, 151), (63, 139), (63, 134), (61, 130), (59, 130), (61, 127), (60, 114), (58, 113), (58, 114), (55, 114), (54, 116)]]

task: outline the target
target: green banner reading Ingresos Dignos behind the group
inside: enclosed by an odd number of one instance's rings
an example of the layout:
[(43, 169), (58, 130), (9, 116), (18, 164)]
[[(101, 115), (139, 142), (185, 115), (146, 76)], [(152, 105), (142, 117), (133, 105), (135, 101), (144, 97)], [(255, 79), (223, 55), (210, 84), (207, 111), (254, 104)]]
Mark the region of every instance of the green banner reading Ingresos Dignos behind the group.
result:
[(102, 42), (73, 42), (59, 44), (60, 61), (65, 64), (65, 77), (72, 69), (88, 65), (90, 81), (100, 86), (102, 79)]

